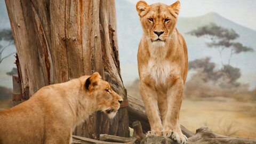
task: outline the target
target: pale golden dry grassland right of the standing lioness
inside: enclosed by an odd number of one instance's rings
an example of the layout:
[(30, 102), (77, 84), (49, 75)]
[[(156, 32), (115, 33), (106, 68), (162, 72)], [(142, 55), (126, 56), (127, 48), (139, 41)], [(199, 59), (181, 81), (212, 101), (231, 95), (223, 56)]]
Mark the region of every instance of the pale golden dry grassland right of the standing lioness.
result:
[(192, 132), (201, 126), (208, 126), (219, 134), (256, 138), (255, 102), (221, 97), (185, 99), (181, 107), (180, 123)]

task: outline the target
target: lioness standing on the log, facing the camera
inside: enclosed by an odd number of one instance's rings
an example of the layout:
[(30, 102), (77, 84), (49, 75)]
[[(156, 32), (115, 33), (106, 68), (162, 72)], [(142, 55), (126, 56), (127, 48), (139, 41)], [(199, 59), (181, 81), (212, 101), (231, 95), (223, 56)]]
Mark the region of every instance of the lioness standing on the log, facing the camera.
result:
[(169, 6), (139, 1), (136, 6), (143, 29), (137, 57), (140, 94), (151, 127), (147, 135), (186, 143), (179, 123), (188, 70), (186, 42), (175, 28), (180, 2)]

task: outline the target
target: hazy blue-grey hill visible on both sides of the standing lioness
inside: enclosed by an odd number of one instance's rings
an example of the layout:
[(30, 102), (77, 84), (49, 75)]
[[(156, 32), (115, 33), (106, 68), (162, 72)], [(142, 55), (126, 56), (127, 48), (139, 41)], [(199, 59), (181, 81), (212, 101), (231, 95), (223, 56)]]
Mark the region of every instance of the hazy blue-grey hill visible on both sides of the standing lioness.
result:
[[(126, 84), (130, 84), (134, 81), (134, 78), (138, 77), (137, 50), (142, 35), (142, 29), (134, 4), (124, 0), (116, 1), (116, 11), (122, 77)], [(256, 44), (254, 43), (256, 31), (223, 18), (218, 13), (210, 12), (201, 17), (181, 17), (178, 19), (177, 28), (187, 42), (189, 60), (211, 57), (213, 62), (217, 63), (217, 65), (220, 64), (218, 51), (208, 48), (204, 38), (197, 38), (186, 34), (197, 27), (207, 25), (211, 22), (225, 28), (234, 29), (236, 33), (240, 35), (237, 41), (254, 49), (254, 52), (251, 53), (234, 55), (231, 59), (231, 65), (241, 68), (241, 82), (255, 85), (256, 76), (253, 76), (252, 74), (256, 72)], [(229, 51), (223, 52), (224, 59), (227, 60), (228, 56)]]

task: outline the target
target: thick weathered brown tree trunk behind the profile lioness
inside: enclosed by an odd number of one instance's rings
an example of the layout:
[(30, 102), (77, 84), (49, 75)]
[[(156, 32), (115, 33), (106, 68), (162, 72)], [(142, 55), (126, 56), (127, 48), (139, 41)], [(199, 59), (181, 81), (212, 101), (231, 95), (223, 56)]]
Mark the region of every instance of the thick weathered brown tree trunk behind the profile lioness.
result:
[[(124, 100), (114, 0), (6, 0), (19, 59), (22, 99), (41, 87), (98, 71)], [(129, 137), (127, 107), (113, 119), (98, 112), (75, 134)]]

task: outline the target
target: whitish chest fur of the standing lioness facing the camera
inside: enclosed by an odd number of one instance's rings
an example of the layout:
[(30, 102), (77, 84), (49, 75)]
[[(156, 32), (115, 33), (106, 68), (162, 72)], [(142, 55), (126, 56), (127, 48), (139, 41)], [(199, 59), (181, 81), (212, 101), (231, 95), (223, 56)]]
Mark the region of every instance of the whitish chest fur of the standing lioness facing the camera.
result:
[(171, 71), (171, 63), (166, 60), (168, 48), (161, 43), (153, 43), (149, 47), (150, 58), (148, 71), (156, 84), (165, 84)]

